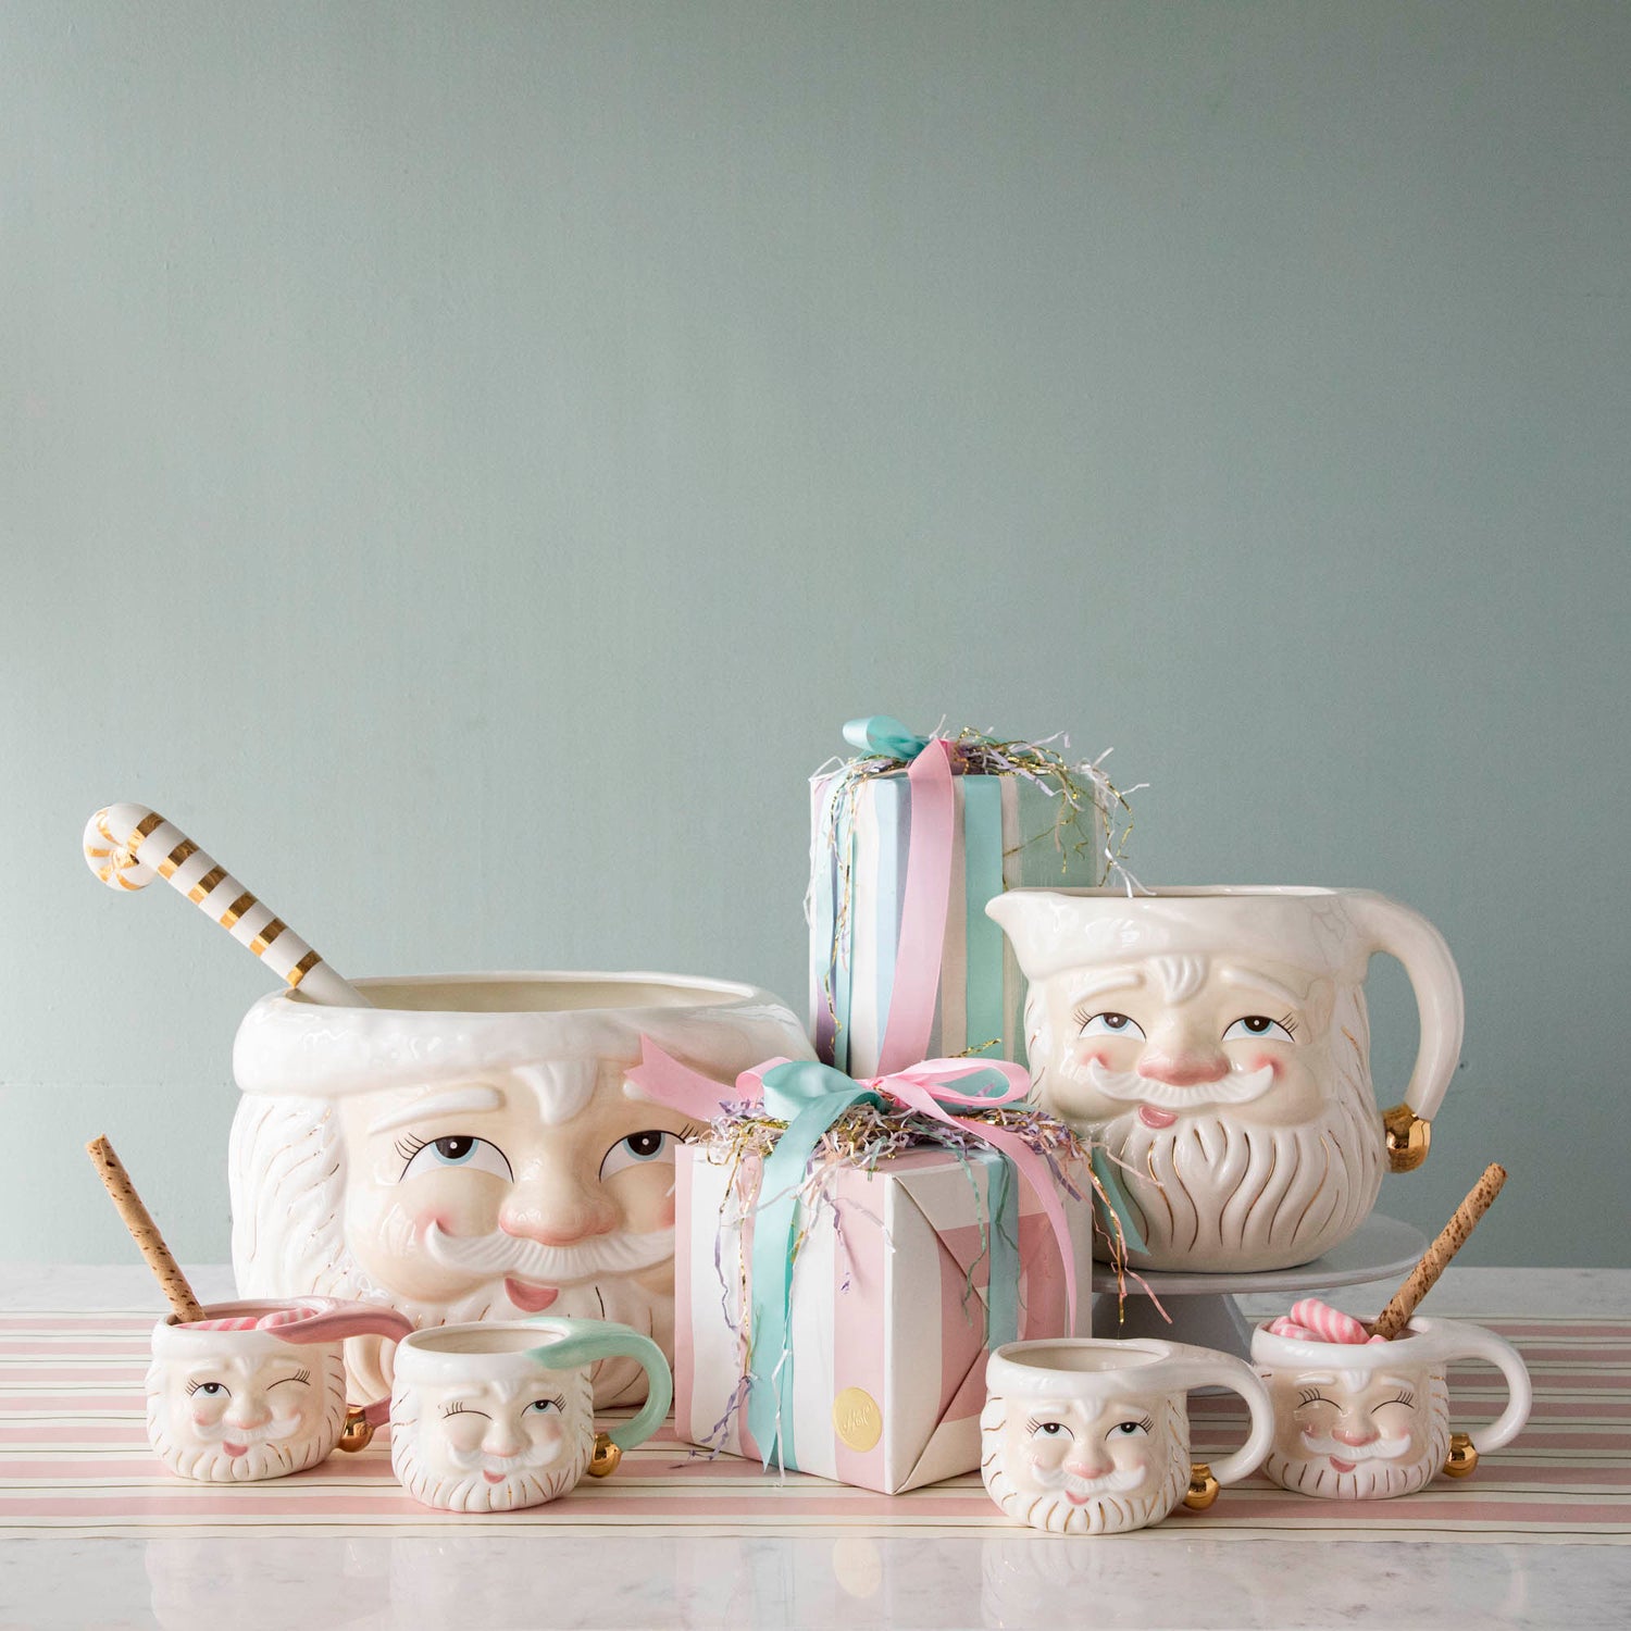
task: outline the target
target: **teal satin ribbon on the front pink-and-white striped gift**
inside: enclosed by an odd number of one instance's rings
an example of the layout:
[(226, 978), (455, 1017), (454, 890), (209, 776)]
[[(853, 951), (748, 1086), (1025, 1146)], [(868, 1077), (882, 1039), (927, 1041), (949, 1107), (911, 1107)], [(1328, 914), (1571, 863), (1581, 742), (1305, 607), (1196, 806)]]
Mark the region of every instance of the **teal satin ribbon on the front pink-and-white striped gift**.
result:
[[(798, 1231), (799, 1189), (816, 1145), (832, 1124), (856, 1104), (882, 1107), (884, 1098), (866, 1083), (830, 1065), (791, 1060), (763, 1073), (763, 1114), (785, 1120), (788, 1130), (765, 1158), (758, 1184), (760, 1202), (754, 1212), (752, 1249), (752, 1372), (747, 1395), (747, 1425), (768, 1466), (775, 1455), (783, 1466), (798, 1466), (793, 1442), (793, 1241)], [(990, 1072), (990, 1091), (1000, 1096), (1006, 1083)], [(957, 1081), (961, 1093), (982, 1094), (979, 1076)], [(938, 1103), (938, 1101), (936, 1101)], [(967, 1104), (946, 1104), (949, 1111)], [(987, 1341), (1011, 1342), (1018, 1336), (1019, 1288), (1019, 1186), (1013, 1166), (998, 1150), (974, 1150), (970, 1156), (988, 1166), (987, 1205), (982, 1218), (985, 1249), (990, 1253), (987, 1290)]]

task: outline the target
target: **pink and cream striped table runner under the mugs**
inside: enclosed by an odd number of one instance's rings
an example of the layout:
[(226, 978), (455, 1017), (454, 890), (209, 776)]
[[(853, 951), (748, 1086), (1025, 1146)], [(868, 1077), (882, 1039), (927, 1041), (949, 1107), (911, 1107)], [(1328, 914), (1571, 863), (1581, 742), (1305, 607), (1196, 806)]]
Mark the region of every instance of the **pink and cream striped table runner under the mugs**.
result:
[[(1293, 1532), (1344, 1540), (1631, 1541), (1631, 1319), (1486, 1321), (1517, 1344), (1535, 1378), (1535, 1414), (1517, 1442), (1468, 1483), (1435, 1479), (1403, 1501), (1310, 1501), (1262, 1478), (1228, 1489), (1207, 1514), (1179, 1514), (1140, 1541)], [(1010, 1527), (979, 1476), (905, 1496), (708, 1460), (672, 1425), (630, 1452), (617, 1476), (586, 1481), (548, 1507), (452, 1517), (409, 1501), (391, 1478), (385, 1435), (362, 1455), (333, 1455), (294, 1478), (222, 1489), (171, 1478), (147, 1448), (142, 1375), (150, 1315), (0, 1315), (0, 1532), (16, 1536), (329, 1532), (568, 1533), (639, 1528), (701, 1535), (972, 1535)], [(1491, 1370), (1452, 1372), (1456, 1427), (1501, 1406)], [(1233, 1398), (1192, 1399), (1196, 1453), (1240, 1440)], [(1057, 1545), (1034, 1536), (1037, 1545)]]

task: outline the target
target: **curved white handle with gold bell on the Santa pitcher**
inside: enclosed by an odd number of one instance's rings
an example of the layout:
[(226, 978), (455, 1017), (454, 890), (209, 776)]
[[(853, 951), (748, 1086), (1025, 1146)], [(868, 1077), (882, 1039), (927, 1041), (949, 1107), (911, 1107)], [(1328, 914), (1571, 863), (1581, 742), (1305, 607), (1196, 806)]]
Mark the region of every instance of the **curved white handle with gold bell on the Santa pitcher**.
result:
[(1368, 891), (1355, 891), (1346, 900), (1368, 951), (1385, 951), (1404, 964), (1421, 1013), (1421, 1045), (1404, 1101), (1383, 1112), (1390, 1166), (1409, 1173), (1427, 1160), (1429, 1127), (1461, 1060), (1466, 1026), (1461, 975), (1443, 935), (1419, 912)]

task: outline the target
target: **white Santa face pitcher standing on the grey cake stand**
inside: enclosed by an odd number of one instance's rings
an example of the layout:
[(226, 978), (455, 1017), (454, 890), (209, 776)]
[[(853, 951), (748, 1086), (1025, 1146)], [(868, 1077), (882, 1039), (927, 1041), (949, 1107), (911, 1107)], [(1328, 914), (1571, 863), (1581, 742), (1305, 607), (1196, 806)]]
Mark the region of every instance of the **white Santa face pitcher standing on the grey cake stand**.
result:
[[(1461, 1052), (1461, 980), (1421, 915), (1360, 889), (1010, 889), (988, 913), (1031, 982), (1044, 1109), (1109, 1145), (1147, 1269), (1310, 1262), (1421, 1166)], [(1377, 1109), (1365, 970), (1409, 974), (1421, 1049)]]

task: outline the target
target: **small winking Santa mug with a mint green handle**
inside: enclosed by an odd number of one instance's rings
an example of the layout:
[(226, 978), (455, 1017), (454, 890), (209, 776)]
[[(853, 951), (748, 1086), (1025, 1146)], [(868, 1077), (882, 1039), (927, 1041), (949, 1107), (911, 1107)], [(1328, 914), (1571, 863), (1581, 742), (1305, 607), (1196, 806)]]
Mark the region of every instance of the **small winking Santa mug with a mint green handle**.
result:
[[(595, 1432), (590, 1367), (634, 1360), (646, 1403)], [(674, 1378), (651, 1337), (605, 1319), (491, 1319), (416, 1331), (396, 1349), (391, 1471), (444, 1512), (512, 1512), (605, 1478), (669, 1414)]]

